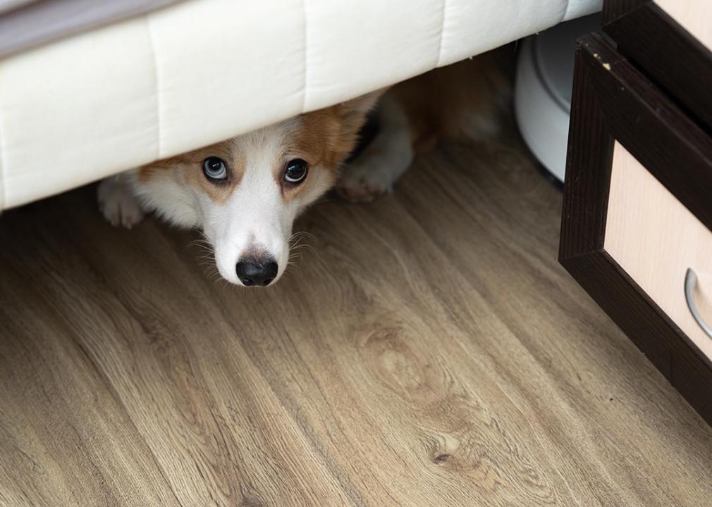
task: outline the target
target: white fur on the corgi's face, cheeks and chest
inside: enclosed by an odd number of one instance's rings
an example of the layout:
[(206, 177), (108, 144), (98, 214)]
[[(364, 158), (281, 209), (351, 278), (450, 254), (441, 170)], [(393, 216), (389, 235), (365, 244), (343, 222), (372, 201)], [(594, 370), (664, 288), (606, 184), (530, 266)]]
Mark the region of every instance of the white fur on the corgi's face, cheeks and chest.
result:
[[(298, 156), (288, 153), (287, 141), (299, 127), (300, 119), (293, 118), (231, 140), (231, 151), (240, 154), (246, 166), (239, 185), (224, 203), (216, 203), (199, 188), (176, 181), (177, 173), (170, 171), (157, 171), (149, 181), (140, 181), (137, 171), (128, 171), (117, 177), (120, 185), (103, 181), (100, 196), (109, 194), (110, 200), (130, 201), (133, 206), (138, 200), (144, 210), (154, 211), (174, 225), (202, 228), (214, 247), (221, 276), (231, 283), (242, 284), (235, 271), (237, 262), (256, 254), (276, 260), (276, 281), (288, 264), (294, 219), (330, 186), (328, 170), (310, 167), (310, 181), (303, 183), (308, 187), (291, 201), (283, 198), (276, 175), (287, 161)], [(201, 167), (194, 170), (201, 171)], [(132, 192), (127, 192), (128, 188)], [(112, 223), (116, 219), (112, 213), (107, 218)]]

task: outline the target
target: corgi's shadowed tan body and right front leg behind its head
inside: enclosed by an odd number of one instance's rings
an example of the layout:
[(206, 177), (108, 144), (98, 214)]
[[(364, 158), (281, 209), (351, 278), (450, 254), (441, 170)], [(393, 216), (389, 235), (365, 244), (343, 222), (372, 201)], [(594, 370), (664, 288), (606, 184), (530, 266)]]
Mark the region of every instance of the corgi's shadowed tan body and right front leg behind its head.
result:
[(503, 48), (392, 87), (379, 107), (377, 134), (345, 167), (337, 192), (348, 201), (372, 201), (391, 191), (417, 152), (438, 139), (497, 134), (511, 91), (500, 66), (513, 54)]

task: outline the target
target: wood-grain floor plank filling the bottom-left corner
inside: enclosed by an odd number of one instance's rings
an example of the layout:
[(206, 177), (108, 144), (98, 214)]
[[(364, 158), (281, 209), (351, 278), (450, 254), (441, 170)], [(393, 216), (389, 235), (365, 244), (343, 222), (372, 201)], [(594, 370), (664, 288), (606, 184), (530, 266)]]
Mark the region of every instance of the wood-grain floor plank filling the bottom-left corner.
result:
[(43, 271), (33, 284), (18, 269), (41, 264), (38, 253), (5, 264), (0, 277), (0, 506), (179, 506), (43, 290), (58, 279)]

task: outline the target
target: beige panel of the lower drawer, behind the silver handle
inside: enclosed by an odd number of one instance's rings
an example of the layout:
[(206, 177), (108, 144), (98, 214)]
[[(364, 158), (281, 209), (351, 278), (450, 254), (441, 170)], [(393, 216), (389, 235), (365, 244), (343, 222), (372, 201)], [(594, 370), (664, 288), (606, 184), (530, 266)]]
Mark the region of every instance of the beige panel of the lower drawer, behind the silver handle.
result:
[(712, 324), (712, 233), (617, 142), (608, 199), (605, 250), (712, 358), (712, 338), (693, 319), (684, 294), (691, 267), (698, 276), (694, 302)]

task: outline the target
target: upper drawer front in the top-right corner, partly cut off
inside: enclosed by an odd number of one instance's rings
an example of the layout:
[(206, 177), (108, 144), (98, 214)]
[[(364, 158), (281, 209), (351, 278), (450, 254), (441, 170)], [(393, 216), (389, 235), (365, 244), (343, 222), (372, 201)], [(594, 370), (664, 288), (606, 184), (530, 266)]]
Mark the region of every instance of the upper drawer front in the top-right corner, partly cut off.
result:
[(712, 129), (712, 1), (604, 0), (603, 30)]

